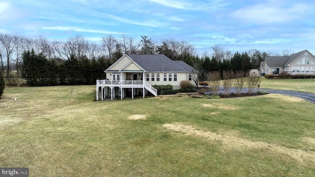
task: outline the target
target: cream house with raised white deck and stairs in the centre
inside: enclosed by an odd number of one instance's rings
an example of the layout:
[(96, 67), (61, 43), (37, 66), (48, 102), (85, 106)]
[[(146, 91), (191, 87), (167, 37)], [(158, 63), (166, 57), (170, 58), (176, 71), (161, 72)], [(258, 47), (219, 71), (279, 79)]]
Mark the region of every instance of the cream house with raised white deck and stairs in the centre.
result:
[(195, 85), (198, 71), (181, 60), (171, 60), (165, 55), (124, 55), (104, 71), (106, 78), (96, 81), (96, 100), (106, 97), (142, 95), (151, 92), (157, 96), (152, 85), (172, 85), (180, 88), (182, 80)]

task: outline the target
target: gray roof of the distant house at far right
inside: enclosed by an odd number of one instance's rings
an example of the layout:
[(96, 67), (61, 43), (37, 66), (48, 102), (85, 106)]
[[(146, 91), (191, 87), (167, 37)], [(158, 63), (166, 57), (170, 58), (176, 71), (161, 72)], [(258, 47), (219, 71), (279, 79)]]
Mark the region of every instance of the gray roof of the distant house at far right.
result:
[(306, 50), (292, 54), (290, 56), (280, 56), (280, 57), (266, 57), (265, 62), (268, 66), (287, 66)]

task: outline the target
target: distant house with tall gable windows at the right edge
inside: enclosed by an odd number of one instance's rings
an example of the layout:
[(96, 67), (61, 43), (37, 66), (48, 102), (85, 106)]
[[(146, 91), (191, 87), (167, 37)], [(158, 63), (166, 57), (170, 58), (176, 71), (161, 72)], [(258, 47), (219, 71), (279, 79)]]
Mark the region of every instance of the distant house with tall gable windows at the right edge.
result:
[(290, 56), (266, 57), (260, 64), (259, 73), (278, 75), (281, 72), (290, 74), (315, 74), (315, 57), (308, 50)]

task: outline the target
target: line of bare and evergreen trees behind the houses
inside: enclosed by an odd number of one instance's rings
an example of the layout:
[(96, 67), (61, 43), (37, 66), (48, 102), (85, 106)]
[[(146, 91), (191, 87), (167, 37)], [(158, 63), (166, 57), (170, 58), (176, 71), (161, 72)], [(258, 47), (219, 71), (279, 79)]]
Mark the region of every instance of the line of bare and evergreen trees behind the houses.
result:
[[(260, 52), (256, 49), (232, 54), (219, 45), (213, 46), (212, 49), (211, 55), (204, 52), (202, 56), (198, 56), (195, 48), (187, 41), (162, 40), (158, 43), (148, 36), (141, 36), (141, 40), (136, 41), (126, 34), (122, 34), (120, 39), (112, 35), (103, 36), (100, 44), (96, 44), (89, 42), (82, 35), (75, 35), (62, 42), (49, 41), (44, 37), (31, 39), (0, 33), (0, 70), (9, 78), (13, 74), (10, 73), (11, 67), (14, 67), (16, 77), (32, 76), (32, 81), (28, 82), (30, 85), (94, 84), (95, 78), (105, 77), (103, 73), (99, 73), (123, 54), (164, 54), (170, 59), (183, 60), (196, 68), (200, 72), (199, 80), (202, 81), (207, 80), (207, 74), (211, 71), (246, 71), (259, 68), (260, 62), (266, 56), (292, 54), (288, 50), (280, 54)], [(29, 63), (38, 66), (33, 67), (36, 74), (27, 74), (32, 68)]]

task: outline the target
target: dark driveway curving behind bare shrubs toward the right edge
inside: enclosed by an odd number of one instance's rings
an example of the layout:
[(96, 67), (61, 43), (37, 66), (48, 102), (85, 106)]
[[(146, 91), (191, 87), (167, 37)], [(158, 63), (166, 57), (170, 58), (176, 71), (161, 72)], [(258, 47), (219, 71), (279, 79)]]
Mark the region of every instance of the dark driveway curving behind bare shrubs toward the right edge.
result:
[[(252, 92), (256, 92), (258, 89), (254, 89)], [(296, 96), (299, 98), (302, 98), (306, 101), (309, 101), (313, 104), (315, 104), (315, 94), (314, 93), (307, 93), (307, 92), (300, 92), (300, 91), (289, 91), (289, 90), (274, 90), (274, 89), (259, 89), (259, 91), (267, 91), (268, 93), (279, 93), (284, 95), (290, 95), (290, 96)], [(236, 89), (234, 87), (231, 88), (230, 92), (236, 93)], [(248, 92), (248, 88), (242, 89), (243, 93)], [(212, 93), (212, 91), (207, 91), (207, 93)], [(218, 90), (219, 93), (224, 93), (224, 88), (220, 87)]]

